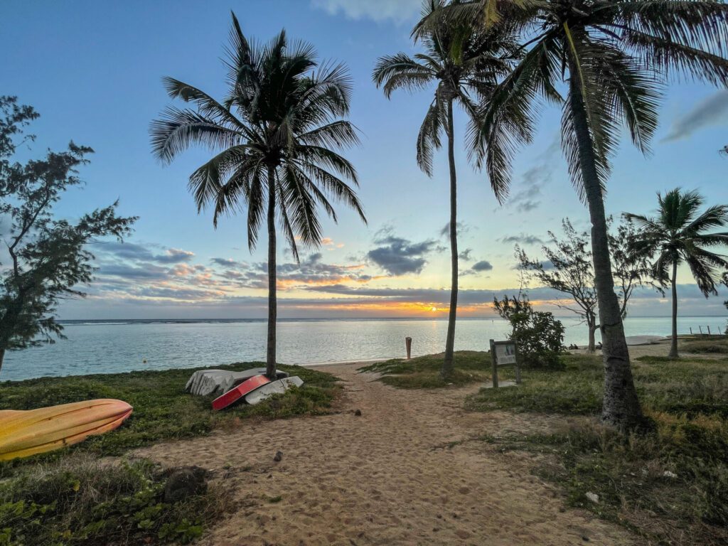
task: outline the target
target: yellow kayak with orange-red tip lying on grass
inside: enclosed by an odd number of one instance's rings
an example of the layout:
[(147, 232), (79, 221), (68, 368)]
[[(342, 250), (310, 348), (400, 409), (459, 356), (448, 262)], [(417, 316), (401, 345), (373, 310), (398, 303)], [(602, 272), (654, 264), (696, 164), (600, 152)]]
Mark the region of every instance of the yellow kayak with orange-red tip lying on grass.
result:
[(129, 404), (111, 399), (0, 411), (0, 461), (71, 446), (114, 430), (131, 413)]

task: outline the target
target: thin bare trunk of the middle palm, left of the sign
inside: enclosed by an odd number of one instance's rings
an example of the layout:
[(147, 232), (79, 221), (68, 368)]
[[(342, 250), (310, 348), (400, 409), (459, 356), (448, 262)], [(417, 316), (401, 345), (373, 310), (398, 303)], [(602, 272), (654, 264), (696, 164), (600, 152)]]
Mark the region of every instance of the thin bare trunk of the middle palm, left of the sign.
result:
[(450, 163), (450, 313), (448, 314), (448, 334), (445, 339), (445, 361), (440, 375), (447, 379), (452, 375), (455, 360), (455, 320), (457, 315), (457, 175), (455, 172), (455, 138), (453, 130), (453, 99), (448, 100), (448, 162)]

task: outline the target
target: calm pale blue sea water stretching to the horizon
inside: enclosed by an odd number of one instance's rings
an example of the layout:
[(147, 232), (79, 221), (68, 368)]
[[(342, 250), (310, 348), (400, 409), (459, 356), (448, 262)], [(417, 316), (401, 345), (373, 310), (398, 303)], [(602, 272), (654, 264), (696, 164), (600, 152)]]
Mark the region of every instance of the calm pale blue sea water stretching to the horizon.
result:
[[(564, 342), (585, 344), (587, 330), (571, 317)], [(716, 333), (725, 317), (681, 317), (678, 331)], [(405, 336), (413, 338), (413, 355), (441, 352), (445, 320), (283, 320), (278, 324), (278, 360), (285, 364), (324, 364), (405, 355)], [(668, 317), (628, 317), (628, 336), (666, 336)], [(505, 339), (509, 326), (500, 319), (461, 319), (456, 349), (486, 350), (489, 339)], [(74, 321), (68, 339), (56, 344), (8, 352), (0, 381), (40, 376), (116, 373), (132, 370), (191, 368), (264, 360), (266, 323), (251, 320), (210, 321)], [(146, 361), (146, 362), (145, 362)]]

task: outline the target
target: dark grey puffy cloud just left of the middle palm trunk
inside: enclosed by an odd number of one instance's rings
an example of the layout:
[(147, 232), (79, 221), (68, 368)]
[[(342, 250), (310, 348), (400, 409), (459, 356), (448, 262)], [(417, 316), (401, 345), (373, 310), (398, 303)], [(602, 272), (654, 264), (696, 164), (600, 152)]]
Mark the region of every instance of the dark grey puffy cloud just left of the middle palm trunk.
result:
[(438, 245), (433, 240), (411, 242), (397, 237), (391, 227), (385, 227), (377, 233), (374, 242), (379, 247), (369, 250), (367, 257), (390, 275), (420, 273), (427, 264), (427, 256)]

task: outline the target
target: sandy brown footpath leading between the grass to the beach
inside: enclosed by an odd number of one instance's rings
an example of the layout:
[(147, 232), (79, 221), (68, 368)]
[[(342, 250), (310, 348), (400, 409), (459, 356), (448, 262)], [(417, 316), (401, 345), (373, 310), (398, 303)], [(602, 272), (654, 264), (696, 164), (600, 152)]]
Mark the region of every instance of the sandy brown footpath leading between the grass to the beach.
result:
[[(564, 510), (555, 488), (529, 473), (525, 454), (477, 441), (438, 447), (558, 419), (466, 413), (463, 398), (477, 387), (405, 391), (355, 370), (326, 370), (344, 381), (342, 413), (245, 422), (138, 454), (214, 470), (234, 488), (240, 509), (204, 545), (633, 544), (620, 527)], [(348, 411), (355, 408), (363, 415)]]

